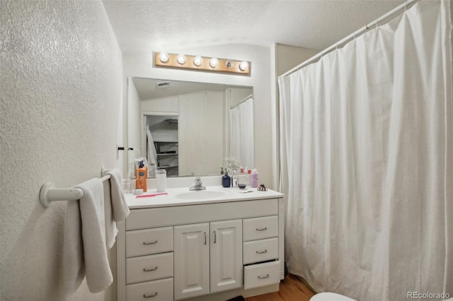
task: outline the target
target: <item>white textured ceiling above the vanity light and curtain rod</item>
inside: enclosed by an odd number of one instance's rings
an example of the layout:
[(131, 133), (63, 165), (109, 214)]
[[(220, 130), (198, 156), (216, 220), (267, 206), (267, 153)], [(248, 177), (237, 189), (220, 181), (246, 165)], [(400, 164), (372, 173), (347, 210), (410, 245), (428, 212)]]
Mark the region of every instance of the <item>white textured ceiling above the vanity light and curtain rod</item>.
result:
[(274, 42), (322, 50), (400, 0), (104, 0), (125, 54)]

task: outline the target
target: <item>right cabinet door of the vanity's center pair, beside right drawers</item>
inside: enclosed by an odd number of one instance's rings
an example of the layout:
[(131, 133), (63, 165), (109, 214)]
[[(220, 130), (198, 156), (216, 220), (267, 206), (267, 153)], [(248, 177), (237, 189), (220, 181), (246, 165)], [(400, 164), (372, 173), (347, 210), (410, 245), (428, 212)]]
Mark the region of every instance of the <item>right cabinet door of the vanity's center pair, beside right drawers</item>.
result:
[(242, 220), (211, 223), (211, 293), (242, 283)]

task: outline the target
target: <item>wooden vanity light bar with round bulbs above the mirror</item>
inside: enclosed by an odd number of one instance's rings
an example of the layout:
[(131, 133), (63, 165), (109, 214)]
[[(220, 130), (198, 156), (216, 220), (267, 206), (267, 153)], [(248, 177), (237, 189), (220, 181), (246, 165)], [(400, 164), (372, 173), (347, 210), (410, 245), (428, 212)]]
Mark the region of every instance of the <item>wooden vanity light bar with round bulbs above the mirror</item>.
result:
[(217, 57), (201, 57), (188, 54), (171, 54), (167, 52), (155, 52), (154, 64), (155, 66), (160, 67), (218, 71), (236, 74), (250, 74), (251, 70), (249, 61), (217, 59)]

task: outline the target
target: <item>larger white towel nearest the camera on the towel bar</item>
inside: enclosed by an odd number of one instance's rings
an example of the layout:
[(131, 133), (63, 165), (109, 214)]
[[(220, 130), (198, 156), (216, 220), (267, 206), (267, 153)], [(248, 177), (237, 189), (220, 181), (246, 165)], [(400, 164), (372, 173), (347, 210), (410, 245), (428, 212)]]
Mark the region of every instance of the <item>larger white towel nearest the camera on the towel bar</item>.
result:
[(79, 201), (68, 201), (64, 223), (64, 289), (74, 293), (86, 276), (91, 293), (113, 283), (105, 248), (104, 194), (101, 179), (75, 188), (84, 191)]

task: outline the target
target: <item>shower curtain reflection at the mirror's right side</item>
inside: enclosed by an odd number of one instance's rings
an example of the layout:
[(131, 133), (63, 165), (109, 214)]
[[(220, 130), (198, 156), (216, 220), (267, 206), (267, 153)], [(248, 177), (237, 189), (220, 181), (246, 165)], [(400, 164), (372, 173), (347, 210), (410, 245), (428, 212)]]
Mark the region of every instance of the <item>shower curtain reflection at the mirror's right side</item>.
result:
[(232, 107), (230, 117), (230, 156), (243, 167), (254, 166), (253, 96)]

